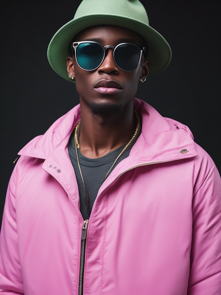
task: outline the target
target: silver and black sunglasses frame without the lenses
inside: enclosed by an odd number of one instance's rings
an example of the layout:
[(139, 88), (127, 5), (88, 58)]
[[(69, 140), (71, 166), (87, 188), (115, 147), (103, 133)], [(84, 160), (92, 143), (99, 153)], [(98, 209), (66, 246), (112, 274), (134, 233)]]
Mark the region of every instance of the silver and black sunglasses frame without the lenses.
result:
[[(92, 69), (92, 70), (86, 70), (86, 69), (82, 68), (82, 67), (79, 65), (78, 61), (77, 61), (77, 55), (76, 55), (77, 47), (78, 47), (80, 44), (82, 44), (82, 43), (96, 43), (96, 44), (99, 44), (99, 45), (103, 48), (103, 51), (104, 51), (103, 59), (102, 59), (101, 63), (100, 63), (96, 68), (94, 68), (94, 69)], [(116, 48), (119, 47), (120, 45), (124, 45), (124, 44), (135, 45), (136, 47), (138, 47), (138, 48), (140, 49), (140, 58), (139, 58), (139, 61), (138, 61), (137, 65), (136, 65), (136, 67), (133, 68), (132, 70), (123, 70), (122, 68), (119, 67), (119, 65), (116, 63), (116, 60), (115, 60), (115, 58), (114, 58), (114, 53), (115, 53)], [(140, 46), (140, 45), (137, 45), (137, 44), (135, 44), (135, 43), (120, 43), (120, 44), (118, 44), (117, 46), (114, 47), (114, 46), (111, 46), (111, 45), (103, 46), (102, 44), (100, 44), (100, 43), (98, 43), (98, 42), (94, 42), (94, 41), (80, 41), (80, 42), (73, 42), (73, 44), (72, 44), (72, 48), (71, 48), (71, 49), (72, 49), (72, 54), (73, 54), (73, 50), (75, 50), (75, 60), (76, 60), (76, 62), (77, 62), (77, 65), (79, 66), (79, 68), (81, 68), (81, 69), (84, 70), (84, 71), (95, 71), (96, 69), (98, 69), (98, 68), (100, 67), (100, 65), (102, 65), (102, 63), (103, 63), (103, 61), (104, 61), (104, 59), (105, 59), (105, 56), (106, 56), (106, 50), (107, 50), (108, 48), (111, 48), (111, 49), (113, 50), (113, 59), (114, 59), (114, 62), (116, 63), (116, 65), (118, 66), (118, 68), (121, 69), (121, 70), (124, 71), (124, 72), (131, 72), (131, 71), (135, 70), (135, 69), (138, 67), (138, 65), (139, 65), (139, 63), (140, 63), (140, 61), (141, 61), (142, 53), (144, 52), (144, 55), (145, 55), (145, 53), (146, 53), (146, 48), (145, 48), (144, 46)], [(72, 55), (72, 54), (71, 54), (71, 55)]]

